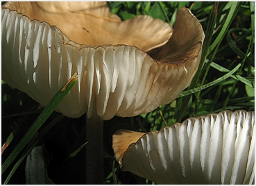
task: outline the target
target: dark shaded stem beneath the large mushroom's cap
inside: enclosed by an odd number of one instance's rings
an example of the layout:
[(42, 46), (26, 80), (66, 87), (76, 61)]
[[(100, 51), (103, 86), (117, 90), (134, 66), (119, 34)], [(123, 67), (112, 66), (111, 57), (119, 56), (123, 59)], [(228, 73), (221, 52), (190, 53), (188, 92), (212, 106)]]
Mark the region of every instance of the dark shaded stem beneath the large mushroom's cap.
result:
[(86, 121), (86, 183), (103, 184), (103, 120), (92, 115)]

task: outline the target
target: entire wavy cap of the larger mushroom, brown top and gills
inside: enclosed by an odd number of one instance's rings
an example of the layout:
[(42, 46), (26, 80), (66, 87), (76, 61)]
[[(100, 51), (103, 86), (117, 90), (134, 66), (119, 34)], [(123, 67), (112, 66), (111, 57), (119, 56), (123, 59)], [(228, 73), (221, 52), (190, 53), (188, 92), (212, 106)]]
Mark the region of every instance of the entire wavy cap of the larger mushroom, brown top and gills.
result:
[(178, 11), (172, 35), (160, 19), (144, 15), (120, 21), (106, 3), (84, 4), (5, 4), (3, 80), (46, 106), (78, 71), (78, 84), (56, 111), (70, 118), (87, 113), (90, 118), (96, 110), (103, 120), (153, 111), (190, 84), (204, 34), (189, 10)]

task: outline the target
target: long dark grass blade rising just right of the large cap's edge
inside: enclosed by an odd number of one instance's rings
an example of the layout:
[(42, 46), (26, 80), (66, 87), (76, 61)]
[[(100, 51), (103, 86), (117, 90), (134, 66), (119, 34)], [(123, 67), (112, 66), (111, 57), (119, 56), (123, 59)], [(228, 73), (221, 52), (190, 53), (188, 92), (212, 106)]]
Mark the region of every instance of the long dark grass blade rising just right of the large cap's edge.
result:
[[(194, 89), (196, 87), (196, 84), (197, 84), (197, 81), (198, 81), (198, 78), (199, 78), (199, 75), (200, 75), (200, 71), (203, 67), (203, 64), (205, 62), (205, 58), (207, 56), (207, 51), (210, 47), (210, 42), (212, 41), (212, 34), (214, 32), (214, 27), (215, 27), (215, 23), (216, 23), (218, 6), (219, 6), (219, 2), (214, 3), (214, 7), (212, 8), (212, 12), (210, 14), (209, 22), (208, 22), (207, 28), (206, 28), (205, 41), (204, 41), (203, 47), (202, 47), (202, 55), (201, 55), (201, 59), (200, 59), (200, 64), (198, 66), (198, 71), (196, 71), (196, 75), (194, 76), (194, 78), (193, 78), (193, 80), (192, 80), (188, 89)], [(176, 122), (181, 122), (182, 115), (185, 111), (187, 103), (189, 102), (189, 99), (190, 99), (190, 95), (187, 95), (186, 97), (183, 98), (182, 106), (180, 108), (180, 111), (178, 112)]]

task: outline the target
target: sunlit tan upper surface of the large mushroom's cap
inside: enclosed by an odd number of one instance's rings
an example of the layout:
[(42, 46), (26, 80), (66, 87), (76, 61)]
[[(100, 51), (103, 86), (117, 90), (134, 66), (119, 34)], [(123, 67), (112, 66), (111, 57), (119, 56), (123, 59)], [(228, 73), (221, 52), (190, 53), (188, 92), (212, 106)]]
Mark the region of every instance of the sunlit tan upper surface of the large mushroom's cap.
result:
[(57, 26), (78, 44), (126, 44), (147, 51), (171, 37), (172, 29), (164, 21), (146, 15), (121, 21), (110, 13), (106, 2), (11, 2), (3, 7)]

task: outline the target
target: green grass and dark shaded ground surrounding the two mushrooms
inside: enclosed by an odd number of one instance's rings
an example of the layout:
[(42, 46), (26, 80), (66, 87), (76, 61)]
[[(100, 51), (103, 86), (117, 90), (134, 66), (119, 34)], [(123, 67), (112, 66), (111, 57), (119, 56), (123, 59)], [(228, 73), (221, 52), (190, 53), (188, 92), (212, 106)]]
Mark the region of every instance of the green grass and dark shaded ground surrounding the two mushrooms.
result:
[[(219, 2), (218, 13), (211, 15), (214, 2), (110, 2), (110, 10), (121, 19), (136, 15), (175, 23), (178, 8), (186, 6), (198, 18), (205, 30), (202, 69), (188, 89), (170, 104), (160, 106), (151, 113), (133, 118), (114, 117), (104, 124), (104, 173), (106, 184), (152, 184), (150, 180), (123, 172), (112, 153), (112, 133), (117, 129), (135, 131), (158, 130), (186, 118), (218, 113), (225, 109), (235, 111), (255, 109), (255, 41), (254, 2)], [(216, 24), (214, 24), (216, 21)], [(2, 156), (10, 152), (31, 127), (42, 109), (25, 93), (2, 82), (2, 145), (13, 131), (14, 138)], [(56, 119), (57, 118), (57, 119)], [(80, 133), (85, 127), (85, 116), (78, 119), (53, 113), (44, 128), (53, 126), (39, 138), (37, 145), (44, 147), (47, 175), (56, 184), (85, 183), (85, 138)], [(76, 139), (79, 137), (79, 141)], [(9, 138), (10, 139), (10, 138)], [(74, 153), (74, 154), (72, 154)], [(26, 156), (17, 156), (19, 167), (10, 178), (10, 184), (26, 183)], [(17, 161), (16, 161), (17, 162)], [(15, 163), (16, 163), (15, 162)], [(14, 167), (12, 163), (10, 167)], [(2, 175), (6, 180), (10, 167)]]

